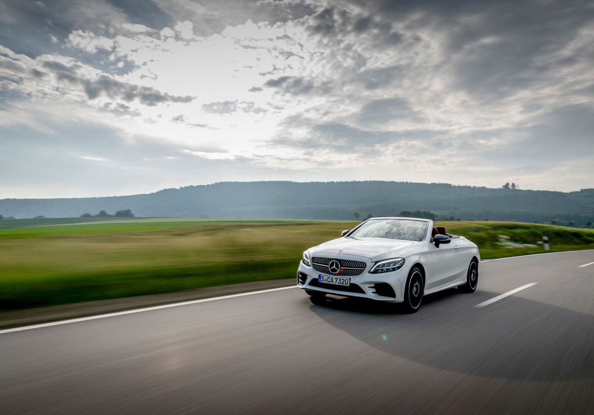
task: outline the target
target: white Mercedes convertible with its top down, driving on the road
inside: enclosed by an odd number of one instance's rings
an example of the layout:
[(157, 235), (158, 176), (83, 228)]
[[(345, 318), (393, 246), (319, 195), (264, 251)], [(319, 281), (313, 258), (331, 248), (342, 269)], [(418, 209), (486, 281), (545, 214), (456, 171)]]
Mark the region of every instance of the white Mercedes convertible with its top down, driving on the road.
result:
[(416, 312), (425, 294), (452, 287), (473, 293), (479, 262), (475, 244), (433, 221), (373, 218), (305, 251), (297, 284), (311, 297), (393, 301)]

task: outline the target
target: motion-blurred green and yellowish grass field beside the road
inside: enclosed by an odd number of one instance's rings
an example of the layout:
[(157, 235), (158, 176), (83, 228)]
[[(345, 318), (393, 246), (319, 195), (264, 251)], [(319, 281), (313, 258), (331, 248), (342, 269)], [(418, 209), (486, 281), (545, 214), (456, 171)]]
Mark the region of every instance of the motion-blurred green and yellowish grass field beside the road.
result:
[[(109, 219), (0, 229), (0, 309), (293, 278), (308, 247), (358, 222)], [(440, 222), (483, 259), (594, 248), (594, 230), (519, 222)]]

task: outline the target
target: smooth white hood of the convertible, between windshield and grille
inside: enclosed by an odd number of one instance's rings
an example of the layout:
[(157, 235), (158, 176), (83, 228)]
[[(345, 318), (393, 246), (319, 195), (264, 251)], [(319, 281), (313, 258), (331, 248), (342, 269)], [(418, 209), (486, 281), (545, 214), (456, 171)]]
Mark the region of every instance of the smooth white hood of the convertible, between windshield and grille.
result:
[(385, 238), (337, 238), (313, 247), (313, 253), (342, 253), (381, 260), (404, 255), (423, 246), (422, 242)]

